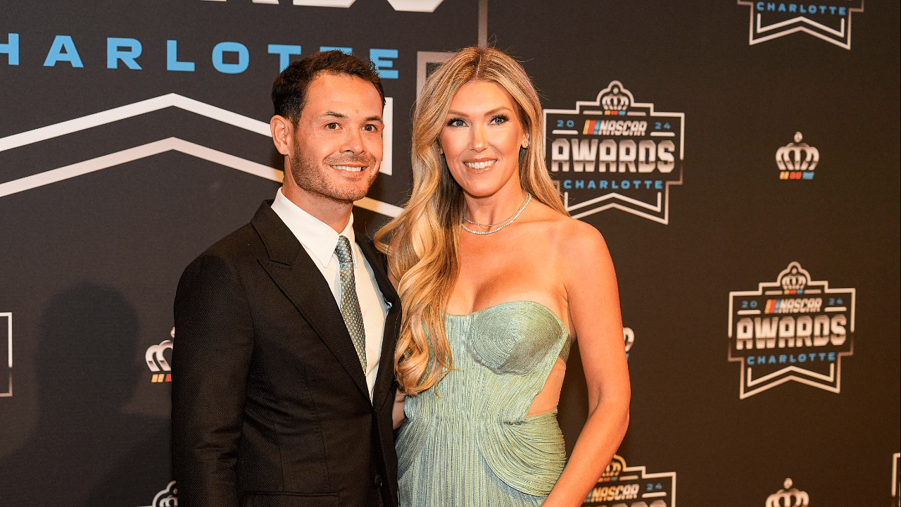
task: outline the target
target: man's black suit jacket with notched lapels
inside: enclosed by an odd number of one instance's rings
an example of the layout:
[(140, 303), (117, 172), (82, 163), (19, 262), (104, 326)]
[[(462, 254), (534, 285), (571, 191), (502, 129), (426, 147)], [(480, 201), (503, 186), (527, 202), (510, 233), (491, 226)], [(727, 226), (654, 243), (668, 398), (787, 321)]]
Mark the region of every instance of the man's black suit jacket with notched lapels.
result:
[(172, 456), (179, 504), (392, 507), (401, 307), (385, 257), (358, 236), (391, 304), (370, 402), (328, 283), (270, 203), (178, 282)]

